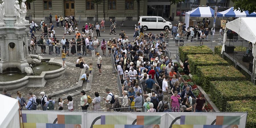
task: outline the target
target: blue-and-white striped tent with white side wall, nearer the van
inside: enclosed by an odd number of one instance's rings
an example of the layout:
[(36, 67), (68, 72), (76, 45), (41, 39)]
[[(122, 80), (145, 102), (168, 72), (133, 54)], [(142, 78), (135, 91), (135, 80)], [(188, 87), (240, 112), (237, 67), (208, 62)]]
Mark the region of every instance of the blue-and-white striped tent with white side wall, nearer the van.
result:
[[(196, 9), (185, 13), (186, 27), (189, 26), (189, 17), (214, 17), (214, 10), (210, 7), (197, 7)], [(222, 17), (222, 14), (217, 13), (217, 17)]]

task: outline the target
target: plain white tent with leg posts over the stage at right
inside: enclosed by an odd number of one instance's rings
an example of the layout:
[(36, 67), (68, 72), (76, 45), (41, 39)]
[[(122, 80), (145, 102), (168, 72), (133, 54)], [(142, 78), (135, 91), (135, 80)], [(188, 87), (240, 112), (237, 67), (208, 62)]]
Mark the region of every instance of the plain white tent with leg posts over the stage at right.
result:
[(253, 73), (255, 74), (255, 58), (256, 58), (256, 25), (255, 24), (256, 17), (240, 17), (235, 20), (232, 20), (226, 24), (224, 38), (223, 38), (223, 46), (221, 53), (225, 51), (225, 44), (227, 40), (227, 31), (228, 29), (236, 32), (241, 38), (252, 42), (253, 44)]

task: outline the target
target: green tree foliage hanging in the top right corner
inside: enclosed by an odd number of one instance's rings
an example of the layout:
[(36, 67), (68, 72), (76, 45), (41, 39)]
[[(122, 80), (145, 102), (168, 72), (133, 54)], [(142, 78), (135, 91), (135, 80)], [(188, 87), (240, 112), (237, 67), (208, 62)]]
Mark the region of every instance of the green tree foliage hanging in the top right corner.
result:
[(255, 0), (231, 0), (234, 3), (234, 9), (243, 11), (249, 11), (249, 14), (256, 11)]

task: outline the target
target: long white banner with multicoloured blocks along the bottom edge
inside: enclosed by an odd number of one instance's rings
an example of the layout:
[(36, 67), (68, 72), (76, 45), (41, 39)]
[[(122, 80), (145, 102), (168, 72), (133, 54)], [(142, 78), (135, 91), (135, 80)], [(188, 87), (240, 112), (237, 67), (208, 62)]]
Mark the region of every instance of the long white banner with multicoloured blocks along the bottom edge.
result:
[(244, 128), (247, 113), (22, 111), (24, 128)]

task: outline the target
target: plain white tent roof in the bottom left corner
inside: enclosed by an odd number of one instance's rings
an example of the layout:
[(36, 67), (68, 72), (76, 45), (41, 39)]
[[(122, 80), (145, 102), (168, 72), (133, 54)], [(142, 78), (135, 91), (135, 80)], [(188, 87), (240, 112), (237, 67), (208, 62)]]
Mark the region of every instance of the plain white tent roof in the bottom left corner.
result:
[(19, 103), (18, 100), (0, 94), (2, 105), (0, 106), (0, 127), (14, 128), (20, 127)]

